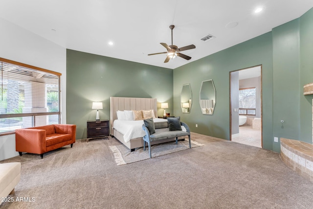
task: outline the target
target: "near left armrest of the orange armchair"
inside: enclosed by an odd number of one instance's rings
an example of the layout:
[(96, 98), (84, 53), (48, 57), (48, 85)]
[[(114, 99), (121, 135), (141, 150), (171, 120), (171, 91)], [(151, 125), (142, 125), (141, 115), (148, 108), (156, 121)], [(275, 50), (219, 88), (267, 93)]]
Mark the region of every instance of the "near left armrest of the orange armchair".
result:
[(42, 129), (16, 129), (16, 151), (34, 154), (45, 153), (45, 133), (46, 131)]

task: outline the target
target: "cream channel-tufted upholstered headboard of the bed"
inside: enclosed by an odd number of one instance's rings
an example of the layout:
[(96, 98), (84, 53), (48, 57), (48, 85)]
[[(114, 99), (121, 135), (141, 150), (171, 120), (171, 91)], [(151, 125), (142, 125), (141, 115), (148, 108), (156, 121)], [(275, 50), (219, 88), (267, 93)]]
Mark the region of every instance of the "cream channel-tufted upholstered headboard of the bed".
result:
[(154, 110), (157, 117), (156, 98), (110, 97), (110, 127), (113, 133), (113, 121), (117, 119), (116, 111)]

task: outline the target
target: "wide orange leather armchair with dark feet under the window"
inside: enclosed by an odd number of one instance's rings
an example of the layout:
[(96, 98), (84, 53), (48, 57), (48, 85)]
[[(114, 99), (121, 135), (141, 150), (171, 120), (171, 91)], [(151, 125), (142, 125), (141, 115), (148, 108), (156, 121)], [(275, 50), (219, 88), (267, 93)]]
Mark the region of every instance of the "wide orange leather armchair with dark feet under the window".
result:
[(73, 146), (76, 140), (76, 125), (53, 124), (15, 130), (15, 148), (22, 152), (40, 154), (66, 146)]

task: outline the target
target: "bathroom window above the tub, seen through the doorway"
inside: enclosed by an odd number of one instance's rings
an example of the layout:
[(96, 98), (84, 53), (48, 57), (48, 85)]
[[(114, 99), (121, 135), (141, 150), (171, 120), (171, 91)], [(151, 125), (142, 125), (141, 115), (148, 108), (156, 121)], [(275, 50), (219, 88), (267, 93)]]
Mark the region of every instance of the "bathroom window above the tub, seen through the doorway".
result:
[(255, 116), (255, 87), (239, 90), (239, 114)]

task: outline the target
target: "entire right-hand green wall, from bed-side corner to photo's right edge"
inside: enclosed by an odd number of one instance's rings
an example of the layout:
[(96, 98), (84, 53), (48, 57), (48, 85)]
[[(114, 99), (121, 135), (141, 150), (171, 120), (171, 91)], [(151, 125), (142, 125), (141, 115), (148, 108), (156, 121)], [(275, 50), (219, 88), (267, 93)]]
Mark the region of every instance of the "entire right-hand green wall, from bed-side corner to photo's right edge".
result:
[[(192, 132), (229, 140), (229, 72), (262, 65), (263, 148), (280, 152), (274, 137), (312, 143), (313, 96), (303, 95), (303, 86), (313, 82), (312, 37), (313, 9), (266, 34), (175, 69), (174, 114)], [(199, 105), (200, 85), (207, 79), (213, 79), (216, 88), (212, 116), (202, 115)], [(186, 83), (193, 95), (188, 115), (178, 108)]]

